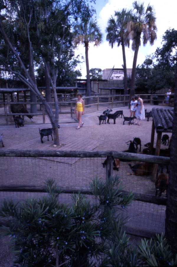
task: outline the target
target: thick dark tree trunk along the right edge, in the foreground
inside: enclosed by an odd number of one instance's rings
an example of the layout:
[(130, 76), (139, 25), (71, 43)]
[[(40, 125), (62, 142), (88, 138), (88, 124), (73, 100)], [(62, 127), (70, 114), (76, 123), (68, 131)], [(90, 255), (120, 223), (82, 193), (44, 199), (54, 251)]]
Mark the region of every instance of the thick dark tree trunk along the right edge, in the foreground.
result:
[(177, 63), (175, 73), (175, 96), (173, 111), (173, 128), (170, 145), (170, 166), (168, 197), (165, 218), (165, 235), (172, 245), (172, 249), (177, 251)]

